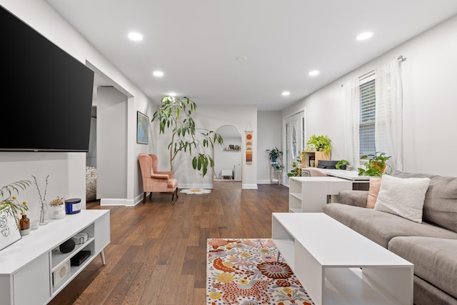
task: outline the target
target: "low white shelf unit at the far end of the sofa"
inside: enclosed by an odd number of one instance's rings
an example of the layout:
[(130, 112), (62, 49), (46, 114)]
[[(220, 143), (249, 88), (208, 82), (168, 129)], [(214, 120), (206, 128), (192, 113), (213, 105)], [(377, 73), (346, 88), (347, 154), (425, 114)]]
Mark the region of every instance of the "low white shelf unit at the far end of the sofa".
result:
[(352, 181), (330, 176), (291, 177), (288, 209), (290, 212), (322, 212), (328, 195), (351, 190)]

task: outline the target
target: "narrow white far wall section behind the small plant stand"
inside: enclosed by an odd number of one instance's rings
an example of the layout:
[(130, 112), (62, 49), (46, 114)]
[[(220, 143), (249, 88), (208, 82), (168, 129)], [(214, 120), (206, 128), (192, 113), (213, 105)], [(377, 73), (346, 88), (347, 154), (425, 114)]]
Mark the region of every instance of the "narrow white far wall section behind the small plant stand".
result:
[[(282, 115), (281, 111), (258, 111), (258, 142), (257, 142), (257, 183), (271, 184), (272, 179), (277, 179), (277, 175), (272, 171), (270, 158), (267, 149), (278, 147), (282, 151), (281, 128)], [(285, 155), (283, 155), (285, 156)], [(283, 161), (285, 159), (283, 158)]]

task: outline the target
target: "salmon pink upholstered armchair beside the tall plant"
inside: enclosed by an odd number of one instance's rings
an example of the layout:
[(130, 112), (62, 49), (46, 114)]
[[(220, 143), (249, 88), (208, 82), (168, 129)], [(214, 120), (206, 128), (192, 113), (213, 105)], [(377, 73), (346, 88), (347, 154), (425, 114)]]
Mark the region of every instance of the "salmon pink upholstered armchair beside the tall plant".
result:
[(146, 203), (146, 193), (151, 198), (152, 193), (171, 193), (171, 204), (174, 196), (178, 198), (178, 180), (173, 178), (172, 171), (157, 171), (157, 156), (155, 154), (140, 154), (138, 156), (143, 177), (143, 204)]

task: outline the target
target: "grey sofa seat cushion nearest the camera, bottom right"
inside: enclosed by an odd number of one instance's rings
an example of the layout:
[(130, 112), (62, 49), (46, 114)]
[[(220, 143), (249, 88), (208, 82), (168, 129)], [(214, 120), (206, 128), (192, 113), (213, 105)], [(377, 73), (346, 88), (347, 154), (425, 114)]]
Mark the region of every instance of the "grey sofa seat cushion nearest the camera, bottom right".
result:
[(414, 264), (414, 274), (457, 298), (457, 239), (395, 237), (388, 249)]

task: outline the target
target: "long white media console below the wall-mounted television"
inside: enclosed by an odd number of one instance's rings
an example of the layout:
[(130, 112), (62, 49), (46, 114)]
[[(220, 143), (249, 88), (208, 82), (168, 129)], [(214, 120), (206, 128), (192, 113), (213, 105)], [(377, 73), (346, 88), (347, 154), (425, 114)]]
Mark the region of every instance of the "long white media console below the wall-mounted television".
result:
[[(97, 255), (104, 263), (103, 249), (110, 241), (109, 210), (82, 210), (51, 219), (49, 224), (32, 230), (21, 240), (0, 251), (0, 304), (46, 304), (74, 279)], [(62, 254), (60, 244), (80, 232), (89, 234), (84, 244)], [(56, 250), (57, 249), (57, 250)], [(71, 266), (59, 284), (53, 284), (53, 272), (60, 271), (81, 250), (91, 255), (81, 266)]]

